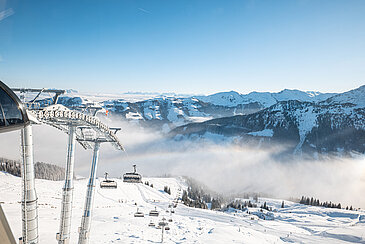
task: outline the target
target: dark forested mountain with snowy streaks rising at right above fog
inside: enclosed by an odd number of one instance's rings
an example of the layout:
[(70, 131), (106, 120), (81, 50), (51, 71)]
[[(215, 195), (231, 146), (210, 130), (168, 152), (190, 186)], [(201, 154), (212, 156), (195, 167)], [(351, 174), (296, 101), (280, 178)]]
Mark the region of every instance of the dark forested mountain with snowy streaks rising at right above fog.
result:
[(256, 113), (187, 124), (177, 139), (232, 139), (241, 143), (292, 146), (292, 151), (365, 153), (365, 86), (320, 102), (281, 101)]

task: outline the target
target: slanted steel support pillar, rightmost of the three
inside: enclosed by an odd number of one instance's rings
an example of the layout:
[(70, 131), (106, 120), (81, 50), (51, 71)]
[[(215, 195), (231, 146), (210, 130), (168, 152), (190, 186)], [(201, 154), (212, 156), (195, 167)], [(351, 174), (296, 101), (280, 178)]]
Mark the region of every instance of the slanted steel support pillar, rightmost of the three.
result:
[(91, 171), (90, 171), (90, 178), (89, 178), (89, 183), (87, 185), (84, 213), (83, 213), (82, 219), (81, 219), (81, 227), (79, 228), (79, 242), (78, 242), (79, 244), (89, 243), (91, 218), (92, 218), (92, 210), (93, 210), (93, 202), (94, 202), (96, 169), (97, 169), (98, 158), (99, 158), (99, 148), (100, 148), (100, 142), (95, 141), (93, 161), (91, 164)]

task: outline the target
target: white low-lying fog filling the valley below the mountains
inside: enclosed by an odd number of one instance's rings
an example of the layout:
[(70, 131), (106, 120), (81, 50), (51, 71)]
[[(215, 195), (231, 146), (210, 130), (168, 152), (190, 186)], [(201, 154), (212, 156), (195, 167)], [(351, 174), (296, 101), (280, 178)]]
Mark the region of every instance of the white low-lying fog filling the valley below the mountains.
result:
[[(365, 157), (333, 158), (325, 161), (290, 160), (279, 162), (273, 150), (252, 149), (228, 144), (171, 141), (160, 133), (131, 123), (111, 123), (122, 131), (118, 136), (126, 152), (102, 145), (98, 175), (111, 177), (137, 170), (148, 176), (186, 175), (219, 193), (262, 192), (273, 197), (302, 195), (343, 206), (365, 207)], [(64, 167), (67, 135), (49, 126), (33, 126), (34, 158)], [(0, 156), (20, 159), (20, 132), (0, 134)], [(88, 176), (92, 151), (76, 147), (76, 173)]]

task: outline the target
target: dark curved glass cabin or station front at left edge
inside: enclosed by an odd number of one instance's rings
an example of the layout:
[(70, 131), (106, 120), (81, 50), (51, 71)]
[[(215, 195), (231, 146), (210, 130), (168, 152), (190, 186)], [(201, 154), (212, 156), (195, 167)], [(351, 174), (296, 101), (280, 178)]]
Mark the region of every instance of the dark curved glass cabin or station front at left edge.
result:
[(0, 81), (0, 132), (18, 130), (29, 124), (27, 112), (18, 96)]

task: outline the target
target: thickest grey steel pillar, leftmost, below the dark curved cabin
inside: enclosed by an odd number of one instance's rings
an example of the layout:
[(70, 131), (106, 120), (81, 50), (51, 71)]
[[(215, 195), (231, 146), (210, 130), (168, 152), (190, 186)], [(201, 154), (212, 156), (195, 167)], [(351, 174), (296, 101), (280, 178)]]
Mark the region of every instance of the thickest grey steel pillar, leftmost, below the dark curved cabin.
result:
[(22, 147), (22, 238), (21, 243), (38, 243), (38, 205), (34, 185), (32, 126), (21, 130)]

